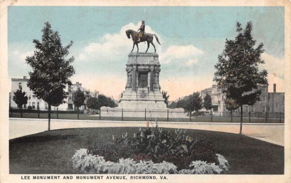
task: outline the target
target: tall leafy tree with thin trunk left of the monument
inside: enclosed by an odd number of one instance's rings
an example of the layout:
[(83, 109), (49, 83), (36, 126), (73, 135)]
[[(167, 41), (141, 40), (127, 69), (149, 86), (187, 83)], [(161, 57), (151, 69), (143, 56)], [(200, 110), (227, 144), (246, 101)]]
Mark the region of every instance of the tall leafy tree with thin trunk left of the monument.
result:
[(71, 66), (74, 57), (65, 58), (73, 42), (63, 47), (59, 33), (51, 30), (49, 22), (45, 23), (42, 33), (42, 41), (33, 40), (34, 54), (25, 59), (32, 67), (27, 85), (36, 97), (48, 103), (48, 130), (50, 130), (51, 106), (65, 103), (68, 92), (64, 89), (67, 84), (72, 84), (69, 78), (75, 73), (74, 67)]

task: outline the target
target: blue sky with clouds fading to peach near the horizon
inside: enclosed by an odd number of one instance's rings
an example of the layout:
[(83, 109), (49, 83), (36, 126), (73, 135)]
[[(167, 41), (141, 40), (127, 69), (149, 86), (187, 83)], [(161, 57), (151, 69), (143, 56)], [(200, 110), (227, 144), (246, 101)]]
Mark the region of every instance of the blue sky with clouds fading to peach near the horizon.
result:
[[(8, 8), (8, 77), (28, 76), (25, 58), (33, 54), (33, 39), (41, 39), (49, 21), (63, 46), (71, 40), (73, 83), (117, 99), (125, 90), (126, 63), (132, 40), (125, 31), (156, 33), (154, 44), (161, 64), (160, 85), (176, 100), (211, 87), (214, 65), (227, 39), (236, 36), (236, 22), (253, 22), (253, 37), (264, 44), (261, 55), (267, 69), (269, 92), (273, 83), (284, 92), (284, 7), (86, 7), (10, 6)], [(140, 52), (146, 44), (139, 44)], [(136, 51), (136, 50), (135, 50)], [(152, 46), (148, 52), (153, 52)]]

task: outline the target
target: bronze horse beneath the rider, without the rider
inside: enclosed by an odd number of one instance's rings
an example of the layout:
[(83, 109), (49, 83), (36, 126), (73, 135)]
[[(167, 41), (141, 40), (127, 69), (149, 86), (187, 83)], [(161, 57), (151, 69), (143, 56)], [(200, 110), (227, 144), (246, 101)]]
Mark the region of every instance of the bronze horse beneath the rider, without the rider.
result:
[(125, 33), (126, 33), (126, 35), (128, 36), (129, 39), (130, 39), (130, 36), (132, 37), (133, 46), (132, 46), (132, 50), (130, 52), (133, 51), (134, 45), (136, 45), (137, 52), (138, 52), (138, 43), (145, 42), (145, 41), (147, 42), (146, 52), (147, 52), (147, 50), (149, 48), (149, 43), (153, 45), (153, 47), (155, 49), (155, 52), (156, 52), (156, 47), (155, 47), (155, 45), (153, 43), (153, 39), (154, 39), (153, 36), (155, 36), (155, 38), (157, 39), (157, 42), (161, 45), (161, 43), (159, 42), (158, 36), (156, 34), (154, 34), (154, 33), (144, 33), (144, 35), (140, 38), (140, 41), (138, 41), (138, 32), (129, 29)]

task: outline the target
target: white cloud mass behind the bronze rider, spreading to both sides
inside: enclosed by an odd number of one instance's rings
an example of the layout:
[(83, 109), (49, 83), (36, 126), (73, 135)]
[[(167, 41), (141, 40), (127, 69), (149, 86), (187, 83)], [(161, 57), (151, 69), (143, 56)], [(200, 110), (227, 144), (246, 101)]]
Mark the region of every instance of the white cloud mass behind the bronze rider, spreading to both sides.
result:
[[(80, 54), (77, 56), (78, 60), (80, 61), (104, 61), (107, 62), (116, 62), (120, 59), (127, 58), (127, 54), (132, 48), (132, 41), (129, 40), (125, 34), (125, 31), (128, 29), (138, 30), (139, 25), (141, 22), (137, 24), (129, 23), (123, 26), (119, 33), (107, 33), (101, 36), (97, 41), (91, 42), (87, 44), (83, 49), (81, 49)], [(147, 33), (156, 33), (154, 30), (151, 29), (150, 26), (146, 26)], [(162, 36), (159, 33), (159, 41), (164, 46), (167, 47), (166, 44), (163, 44)], [(169, 41), (168, 39), (167, 41)], [(157, 52), (160, 55), (160, 62), (161, 64), (169, 64), (169, 63), (185, 63), (187, 66), (191, 64), (195, 64), (198, 62), (197, 56), (204, 54), (203, 50), (199, 50), (194, 45), (187, 45), (187, 46), (177, 46), (177, 45), (170, 45), (165, 51), (162, 51), (162, 48), (157, 46), (157, 41), (154, 39), (154, 44), (156, 45)], [(145, 43), (139, 44), (140, 52), (144, 52), (147, 48)], [(137, 48), (134, 48), (136, 51)], [(153, 52), (154, 49), (150, 45), (149, 52)]]

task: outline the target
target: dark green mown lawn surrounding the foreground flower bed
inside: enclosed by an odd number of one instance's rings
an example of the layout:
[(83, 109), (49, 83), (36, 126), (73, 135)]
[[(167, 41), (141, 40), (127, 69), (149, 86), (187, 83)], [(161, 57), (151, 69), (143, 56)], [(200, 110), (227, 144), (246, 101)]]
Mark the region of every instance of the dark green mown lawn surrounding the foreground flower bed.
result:
[[(112, 135), (131, 136), (136, 127), (62, 129), (9, 141), (11, 174), (81, 174), (71, 166), (76, 150), (91, 143), (112, 143)], [(174, 129), (163, 129), (174, 131)], [(244, 135), (187, 130), (194, 139), (211, 141), (230, 165), (228, 174), (284, 174), (284, 147)]]

